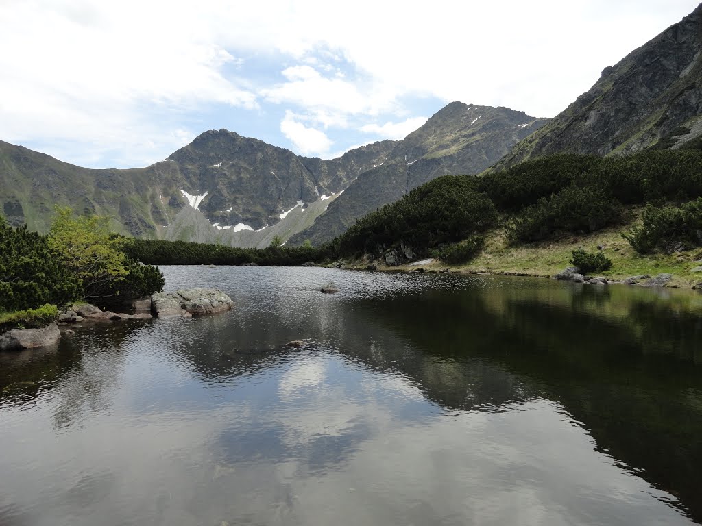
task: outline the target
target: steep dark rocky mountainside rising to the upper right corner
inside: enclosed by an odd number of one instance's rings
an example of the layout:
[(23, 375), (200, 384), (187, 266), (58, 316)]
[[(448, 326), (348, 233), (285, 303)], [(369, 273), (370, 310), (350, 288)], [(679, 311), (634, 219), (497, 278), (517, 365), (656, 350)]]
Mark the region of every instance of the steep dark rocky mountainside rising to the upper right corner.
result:
[(555, 153), (619, 154), (680, 147), (702, 135), (702, 4), (607, 67), (587, 93), (496, 168)]

